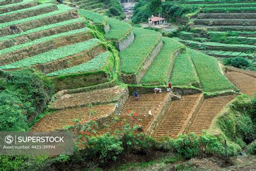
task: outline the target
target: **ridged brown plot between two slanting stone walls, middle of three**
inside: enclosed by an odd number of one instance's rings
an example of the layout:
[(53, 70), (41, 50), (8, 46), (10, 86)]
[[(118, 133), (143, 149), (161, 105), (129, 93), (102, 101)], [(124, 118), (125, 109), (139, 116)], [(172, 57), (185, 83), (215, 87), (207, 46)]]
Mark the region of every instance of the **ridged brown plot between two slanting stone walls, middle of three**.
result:
[(178, 134), (182, 133), (191, 117), (191, 111), (197, 107), (198, 100), (202, 97), (203, 94), (183, 95), (181, 100), (172, 101), (154, 137), (160, 138), (165, 135), (176, 138)]

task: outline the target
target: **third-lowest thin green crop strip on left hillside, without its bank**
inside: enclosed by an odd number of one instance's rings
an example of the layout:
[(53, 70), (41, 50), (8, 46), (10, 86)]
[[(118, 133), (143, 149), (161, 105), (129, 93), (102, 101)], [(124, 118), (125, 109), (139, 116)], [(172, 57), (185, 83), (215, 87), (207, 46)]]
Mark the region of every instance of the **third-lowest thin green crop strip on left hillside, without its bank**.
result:
[(76, 33), (87, 32), (89, 30), (90, 30), (89, 28), (82, 28), (82, 29), (78, 29), (78, 30), (71, 30), (68, 32), (59, 33), (59, 34), (48, 36), (48, 37), (39, 38), (39, 39), (33, 40), (32, 42), (28, 42), (28, 43), (24, 43), (24, 44), (20, 44), (20, 45), (16, 45), (16, 46), (11, 46), (9, 48), (0, 50), (0, 55), (2, 55), (4, 53), (9, 53), (9, 52), (12, 52), (15, 50), (23, 49), (24, 47), (31, 46), (31, 45), (37, 44), (37, 43), (42, 43), (42, 42), (45, 42), (45, 41), (48, 41), (48, 40), (51, 40), (54, 38), (68, 36), (68, 35), (74, 35)]

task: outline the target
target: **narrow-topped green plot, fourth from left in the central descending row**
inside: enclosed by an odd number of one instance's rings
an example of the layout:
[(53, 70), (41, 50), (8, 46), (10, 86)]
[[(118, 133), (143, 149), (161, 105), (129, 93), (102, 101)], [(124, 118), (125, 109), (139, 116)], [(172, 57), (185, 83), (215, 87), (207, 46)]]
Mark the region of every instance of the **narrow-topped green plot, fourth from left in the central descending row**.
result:
[(183, 47), (183, 45), (171, 38), (163, 38), (163, 42), (164, 46), (160, 53), (142, 78), (143, 84), (165, 85), (169, 81), (174, 54), (177, 53), (177, 50)]

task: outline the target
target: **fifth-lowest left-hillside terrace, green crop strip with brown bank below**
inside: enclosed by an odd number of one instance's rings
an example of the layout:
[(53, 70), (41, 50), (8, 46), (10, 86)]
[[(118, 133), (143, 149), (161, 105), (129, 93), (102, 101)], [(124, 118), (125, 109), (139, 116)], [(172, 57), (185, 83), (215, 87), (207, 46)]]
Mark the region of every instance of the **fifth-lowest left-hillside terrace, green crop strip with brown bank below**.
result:
[(0, 35), (13, 35), (39, 26), (58, 23), (78, 17), (76, 10), (73, 8), (68, 8), (66, 5), (58, 5), (58, 10), (53, 12), (0, 24)]

